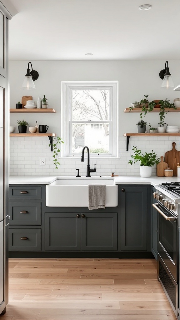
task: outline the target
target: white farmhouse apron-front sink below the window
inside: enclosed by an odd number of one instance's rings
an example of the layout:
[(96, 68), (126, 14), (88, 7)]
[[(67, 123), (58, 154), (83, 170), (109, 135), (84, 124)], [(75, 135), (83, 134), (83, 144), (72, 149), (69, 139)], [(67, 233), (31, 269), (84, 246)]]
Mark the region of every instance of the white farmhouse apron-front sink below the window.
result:
[(47, 207), (88, 207), (88, 185), (106, 185), (106, 207), (117, 207), (118, 186), (113, 178), (58, 178), (46, 185)]

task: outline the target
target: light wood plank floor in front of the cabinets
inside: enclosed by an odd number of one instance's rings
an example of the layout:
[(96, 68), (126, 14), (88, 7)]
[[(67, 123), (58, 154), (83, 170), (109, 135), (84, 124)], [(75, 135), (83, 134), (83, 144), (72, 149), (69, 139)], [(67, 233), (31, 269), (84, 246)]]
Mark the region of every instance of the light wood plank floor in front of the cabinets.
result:
[(4, 319), (174, 320), (153, 259), (9, 259)]

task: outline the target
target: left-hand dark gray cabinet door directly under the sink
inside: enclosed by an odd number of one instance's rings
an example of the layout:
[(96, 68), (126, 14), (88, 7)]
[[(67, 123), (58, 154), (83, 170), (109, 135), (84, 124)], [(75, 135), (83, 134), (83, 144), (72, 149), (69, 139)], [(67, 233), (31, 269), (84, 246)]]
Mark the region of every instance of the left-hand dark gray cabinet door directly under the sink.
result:
[(80, 214), (45, 212), (45, 250), (81, 250)]

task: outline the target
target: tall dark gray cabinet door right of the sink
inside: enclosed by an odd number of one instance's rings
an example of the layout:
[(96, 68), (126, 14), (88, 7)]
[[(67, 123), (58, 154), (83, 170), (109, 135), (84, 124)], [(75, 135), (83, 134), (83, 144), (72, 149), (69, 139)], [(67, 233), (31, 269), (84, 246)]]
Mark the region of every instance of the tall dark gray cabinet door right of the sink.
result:
[(147, 250), (147, 188), (120, 186), (120, 249)]

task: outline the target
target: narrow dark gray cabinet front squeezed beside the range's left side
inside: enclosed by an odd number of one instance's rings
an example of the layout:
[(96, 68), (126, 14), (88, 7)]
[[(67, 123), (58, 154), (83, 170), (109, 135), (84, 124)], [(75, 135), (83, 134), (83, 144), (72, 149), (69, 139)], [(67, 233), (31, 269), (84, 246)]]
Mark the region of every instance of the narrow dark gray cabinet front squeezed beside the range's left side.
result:
[[(152, 188), (152, 193), (155, 192), (156, 189)], [(157, 200), (154, 199), (152, 194), (152, 204), (157, 203)], [(157, 260), (158, 251), (158, 212), (152, 207), (151, 211), (151, 252)]]

